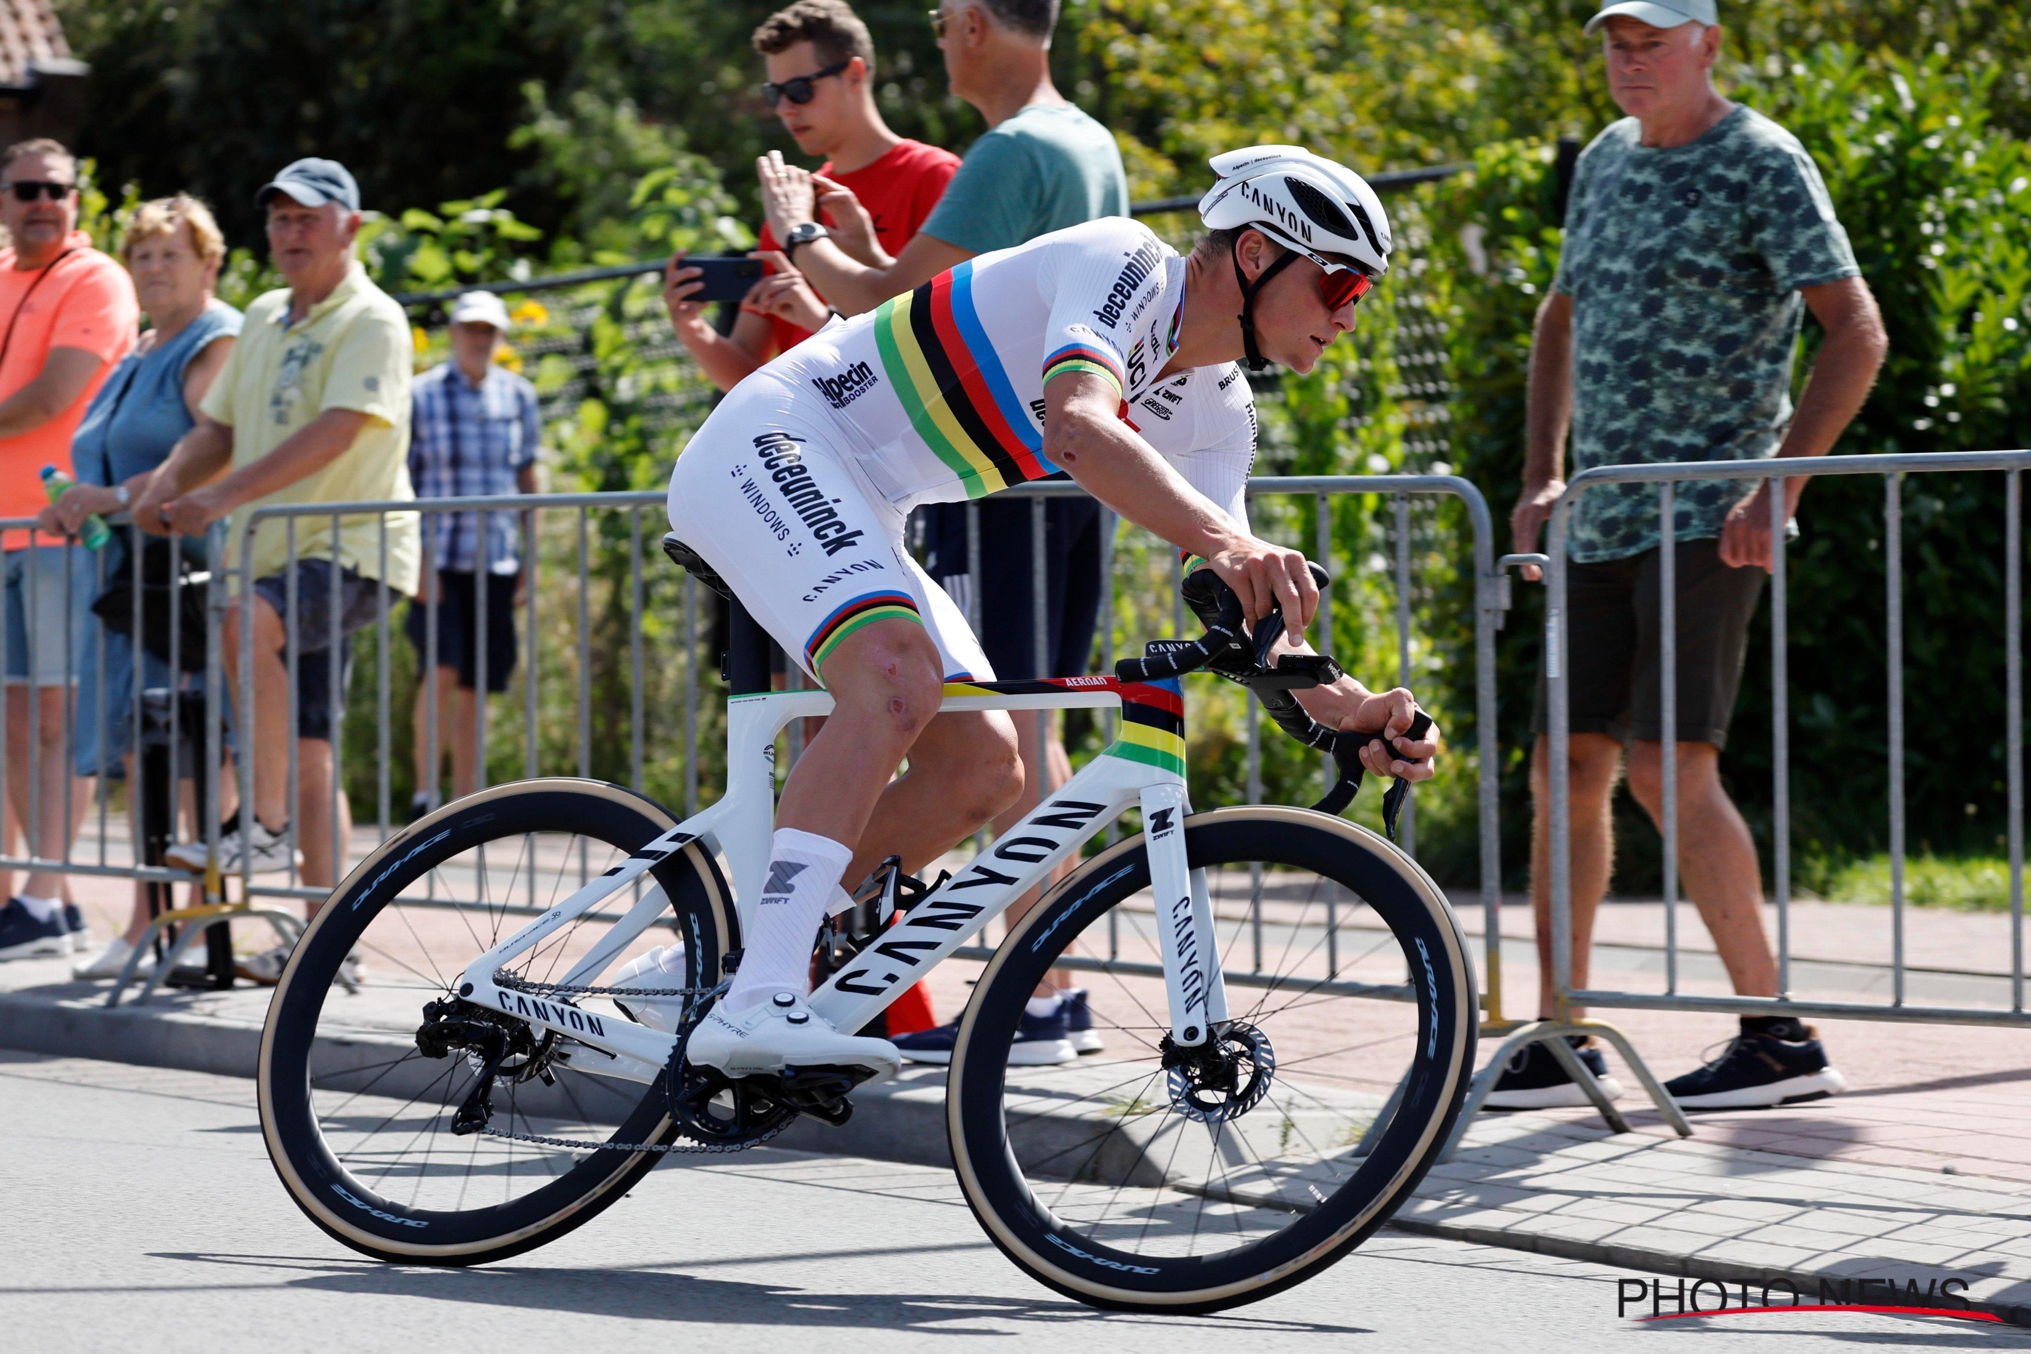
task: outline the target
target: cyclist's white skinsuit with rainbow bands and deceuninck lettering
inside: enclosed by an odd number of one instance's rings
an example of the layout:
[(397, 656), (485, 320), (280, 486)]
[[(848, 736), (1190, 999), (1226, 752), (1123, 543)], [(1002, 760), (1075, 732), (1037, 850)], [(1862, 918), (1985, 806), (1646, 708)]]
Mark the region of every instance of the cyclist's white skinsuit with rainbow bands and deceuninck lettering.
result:
[(948, 680), (987, 680), (959, 607), (904, 548), (904, 522), (916, 503), (1054, 473), (1048, 378), (1109, 380), (1121, 418), (1247, 522), (1255, 402), (1241, 369), (1156, 380), (1182, 307), (1184, 260), (1125, 217), (983, 254), (735, 386), (676, 461), (670, 526), (812, 676), (863, 625), (912, 619)]

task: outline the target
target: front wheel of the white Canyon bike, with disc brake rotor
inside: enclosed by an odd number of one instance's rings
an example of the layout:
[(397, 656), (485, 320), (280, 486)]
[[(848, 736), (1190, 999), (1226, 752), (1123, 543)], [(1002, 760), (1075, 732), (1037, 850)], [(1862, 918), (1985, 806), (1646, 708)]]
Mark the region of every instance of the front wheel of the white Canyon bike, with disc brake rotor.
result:
[[(1215, 1311), (1318, 1273), (1444, 1151), (1475, 1066), (1472, 966), (1393, 844), (1298, 808), (1184, 822), (1229, 1021), (1192, 1060), (1168, 1001), (1143, 838), (1089, 861), (987, 966), (946, 1090), (973, 1214), (1040, 1283), (1097, 1307)], [(1083, 970), (1064, 1066), (1011, 1066), (1026, 1003)], [(1091, 974), (1091, 976), (1087, 976)]]

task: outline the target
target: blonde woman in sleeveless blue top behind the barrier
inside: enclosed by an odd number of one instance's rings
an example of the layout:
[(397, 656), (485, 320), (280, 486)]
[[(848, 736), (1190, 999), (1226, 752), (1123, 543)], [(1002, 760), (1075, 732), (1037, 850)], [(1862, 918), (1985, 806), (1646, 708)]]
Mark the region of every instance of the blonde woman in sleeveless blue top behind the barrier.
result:
[[(211, 294), (219, 264), (225, 262), (225, 238), (201, 201), (177, 195), (142, 203), (128, 219), (120, 252), (128, 272), (134, 274), (134, 292), (150, 327), (85, 408), (85, 418), (71, 438), (77, 483), (43, 512), (43, 530), (75, 534), (87, 516), (112, 518), (138, 499), (154, 469), (195, 424), (197, 404), (225, 365), (225, 355), (240, 333), (240, 311)], [(112, 577), (126, 556), (128, 538), (128, 528), (114, 530), (95, 570), (102, 581)], [(134, 644), (128, 635), (100, 625), (89, 613), (79, 631), (77, 719), (71, 741), (77, 773), (132, 777)], [(152, 654), (144, 654), (142, 660), (142, 688), (177, 684), (169, 664)], [(138, 824), (132, 840), (140, 842)], [(146, 893), (136, 885), (134, 918), (126, 934), (79, 964), (77, 976), (118, 976), (146, 926)]]

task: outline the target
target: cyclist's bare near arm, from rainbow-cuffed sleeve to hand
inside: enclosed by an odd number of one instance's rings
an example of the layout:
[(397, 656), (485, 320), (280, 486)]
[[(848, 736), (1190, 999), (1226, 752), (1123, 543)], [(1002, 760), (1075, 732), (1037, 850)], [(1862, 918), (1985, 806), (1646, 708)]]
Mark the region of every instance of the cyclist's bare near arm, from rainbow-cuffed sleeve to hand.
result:
[(1318, 609), (1304, 554), (1251, 536), (1121, 422), (1119, 408), (1107, 378), (1054, 376), (1044, 386), (1044, 455), (1135, 526), (1204, 558), (1251, 621), (1282, 601), (1290, 639), (1302, 644)]

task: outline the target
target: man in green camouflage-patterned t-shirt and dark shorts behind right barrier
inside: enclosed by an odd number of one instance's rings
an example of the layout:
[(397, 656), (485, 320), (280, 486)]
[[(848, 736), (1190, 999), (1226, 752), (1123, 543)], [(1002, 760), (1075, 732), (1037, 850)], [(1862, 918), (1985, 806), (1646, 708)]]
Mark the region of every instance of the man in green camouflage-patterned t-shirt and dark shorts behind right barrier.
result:
[[(1769, 118), (1712, 85), (1714, 0), (1609, 0), (1598, 32), (1609, 89), (1629, 114), (1580, 156), (1566, 248), (1537, 311), (1529, 361), (1517, 550), (1535, 550), (1578, 469), (1659, 461), (1826, 455), (1860, 408), (1887, 347), (1848, 238), (1812, 156)], [(1791, 406), (1791, 359), (1810, 309), (1826, 331)], [(1663, 818), (1663, 739), (1678, 741), (1680, 877), (1734, 991), (1777, 995), (1763, 934), (1755, 842), (1720, 784), (1749, 621), (1771, 564), (1769, 481), (1676, 487), (1676, 729), (1659, 682), (1655, 485), (1578, 497), (1570, 518), (1568, 682), (1572, 710), (1572, 983), (1586, 987), (1594, 909), (1609, 885), (1609, 804), (1627, 747), (1629, 790)], [(1787, 479), (1787, 514), (1806, 479)], [(1529, 570), (1535, 574), (1535, 570)], [(1550, 808), (1539, 686), (1531, 899), (1544, 1015), (1550, 997)], [(1602, 1068), (1600, 1054), (1582, 1058)], [(1694, 1108), (1783, 1104), (1844, 1086), (1812, 1029), (1743, 1017), (1714, 1062), (1667, 1084)], [(1613, 1084), (1611, 1084), (1613, 1090)], [(1537, 1045), (1497, 1082), (1491, 1106), (1584, 1104)]]

